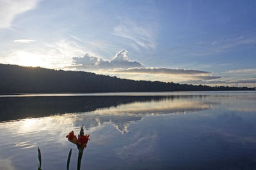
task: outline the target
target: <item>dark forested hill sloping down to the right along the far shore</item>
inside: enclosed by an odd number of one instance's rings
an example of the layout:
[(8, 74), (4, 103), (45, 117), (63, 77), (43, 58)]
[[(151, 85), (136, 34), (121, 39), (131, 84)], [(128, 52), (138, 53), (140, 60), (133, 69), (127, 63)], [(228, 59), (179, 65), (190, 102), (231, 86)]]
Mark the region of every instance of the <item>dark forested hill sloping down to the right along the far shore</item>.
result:
[(0, 64), (0, 93), (61, 93), (61, 92), (163, 92), (205, 90), (255, 90), (247, 87), (209, 87), (135, 81), (84, 71), (63, 71), (42, 67)]

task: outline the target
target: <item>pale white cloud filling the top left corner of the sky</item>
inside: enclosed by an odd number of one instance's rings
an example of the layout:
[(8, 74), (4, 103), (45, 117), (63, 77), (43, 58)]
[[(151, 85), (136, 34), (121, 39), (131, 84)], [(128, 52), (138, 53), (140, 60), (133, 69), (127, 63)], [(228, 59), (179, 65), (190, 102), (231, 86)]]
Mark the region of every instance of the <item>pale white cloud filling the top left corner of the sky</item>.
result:
[(33, 10), (40, 0), (3, 0), (0, 1), (0, 28), (10, 28), (13, 19), (29, 10)]

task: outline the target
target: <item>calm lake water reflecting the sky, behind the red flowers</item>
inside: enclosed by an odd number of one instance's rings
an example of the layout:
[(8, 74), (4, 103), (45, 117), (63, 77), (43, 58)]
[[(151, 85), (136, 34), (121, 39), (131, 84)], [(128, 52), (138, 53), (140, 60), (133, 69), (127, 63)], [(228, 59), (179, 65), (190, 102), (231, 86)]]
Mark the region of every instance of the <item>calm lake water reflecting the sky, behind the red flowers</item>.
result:
[(83, 124), (81, 169), (256, 169), (255, 92), (1, 96), (0, 169), (76, 169)]

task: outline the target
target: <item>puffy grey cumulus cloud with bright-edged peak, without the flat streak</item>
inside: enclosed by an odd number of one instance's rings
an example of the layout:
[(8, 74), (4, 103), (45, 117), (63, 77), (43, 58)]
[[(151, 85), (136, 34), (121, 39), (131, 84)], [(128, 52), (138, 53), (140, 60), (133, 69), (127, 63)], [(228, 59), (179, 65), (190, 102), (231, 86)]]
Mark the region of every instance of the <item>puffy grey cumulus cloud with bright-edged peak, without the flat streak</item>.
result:
[(99, 57), (94, 57), (86, 53), (83, 57), (73, 57), (74, 67), (76, 69), (113, 69), (113, 68), (129, 68), (142, 67), (142, 64), (137, 61), (129, 60), (127, 50), (121, 50), (116, 53), (113, 60), (103, 60)]

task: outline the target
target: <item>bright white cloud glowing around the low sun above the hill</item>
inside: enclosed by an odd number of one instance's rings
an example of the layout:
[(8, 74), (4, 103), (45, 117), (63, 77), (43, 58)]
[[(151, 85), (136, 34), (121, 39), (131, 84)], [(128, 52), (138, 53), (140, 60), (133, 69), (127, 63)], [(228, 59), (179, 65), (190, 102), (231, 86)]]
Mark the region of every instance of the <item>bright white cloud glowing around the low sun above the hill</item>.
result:
[(72, 64), (72, 57), (90, 53), (74, 41), (61, 39), (52, 43), (43, 43), (39, 47), (13, 48), (0, 58), (1, 63), (19, 64), (22, 66), (40, 66), (60, 69)]

